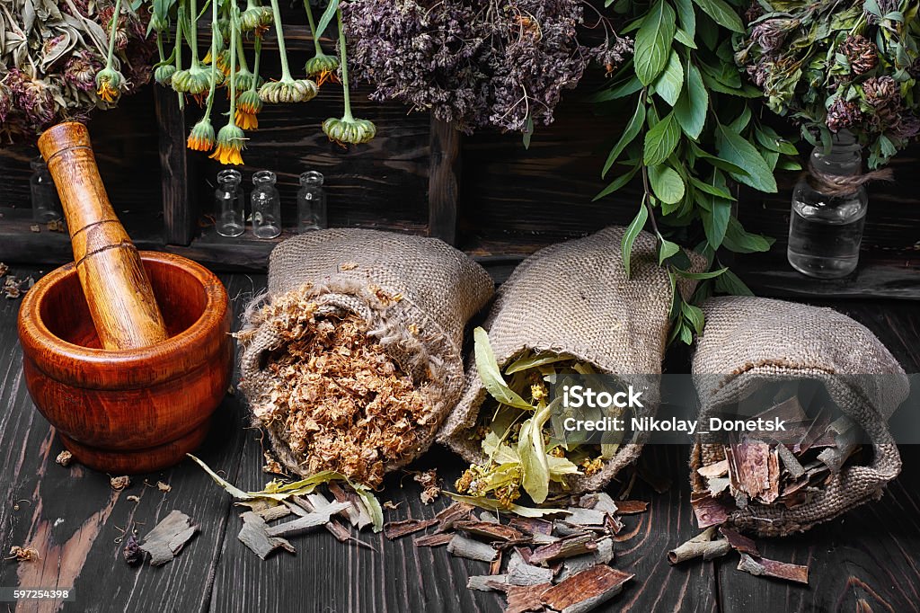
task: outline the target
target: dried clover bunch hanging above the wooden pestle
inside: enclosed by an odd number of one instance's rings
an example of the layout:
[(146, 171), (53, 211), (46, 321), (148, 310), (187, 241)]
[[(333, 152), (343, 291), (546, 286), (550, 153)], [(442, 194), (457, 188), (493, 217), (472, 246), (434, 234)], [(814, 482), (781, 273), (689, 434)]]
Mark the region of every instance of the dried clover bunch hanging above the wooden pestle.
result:
[(136, 8), (0, 0), (3, 142), (31, 141), (59, 121), (86, 121), (91, 110), (108, 109), (147, 82), (154, 49), (144, 38), (146, 11)]

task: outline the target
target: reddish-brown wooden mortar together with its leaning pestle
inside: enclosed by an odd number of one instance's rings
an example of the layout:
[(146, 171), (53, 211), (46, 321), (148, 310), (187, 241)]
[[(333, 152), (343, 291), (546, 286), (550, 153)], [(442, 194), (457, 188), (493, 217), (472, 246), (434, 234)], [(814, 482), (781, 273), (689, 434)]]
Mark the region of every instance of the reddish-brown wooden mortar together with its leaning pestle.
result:
[(35, 283), (19, 308), (29, 395), (82, 464), (111, 474), (166, 468), (201, 444), (230, 386), (224, 285), (191, 260), (138, 252), (85, 126), (54, 126), (39, 148), (75, 261)]

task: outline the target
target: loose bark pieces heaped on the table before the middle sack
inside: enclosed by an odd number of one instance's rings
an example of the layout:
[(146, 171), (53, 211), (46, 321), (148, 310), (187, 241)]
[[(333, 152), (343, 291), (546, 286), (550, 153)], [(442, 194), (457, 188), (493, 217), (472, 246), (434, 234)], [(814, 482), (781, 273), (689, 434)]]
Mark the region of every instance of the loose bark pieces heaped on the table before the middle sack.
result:
[(446, 545), (456, 557), (487, 562), (489, 573), (470, 576), (466, 587), (502, 592), (506, 612), (589, 611), (633, 578), (612, 566), (614, 539), (625, 527), (622, 515), (643, 513), (648, 504), (614, 502), (605, 493), (569, 502), (568, 508), (532, 510), (507, 523), (500, 515), (476, 515), (472, 504), (457, 502), (431, 519), (390, 522), (384, 534), (402, 538), (434, 527), (414, 538), (415, 545)]

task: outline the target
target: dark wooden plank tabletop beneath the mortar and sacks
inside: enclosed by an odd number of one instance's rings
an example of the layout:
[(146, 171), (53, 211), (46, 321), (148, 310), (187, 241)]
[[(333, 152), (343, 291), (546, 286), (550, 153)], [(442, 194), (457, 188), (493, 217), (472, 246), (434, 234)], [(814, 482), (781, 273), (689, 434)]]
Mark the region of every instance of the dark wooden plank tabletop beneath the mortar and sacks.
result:
[[(17, 270), (19, 274), (35, 271)], [(224, 276), (236, 314), (264, 286), (261, 276)], [(920, 307), (912, 302), (848, 301), (822, 304), (857, 318), (879, 335), (908, 372), (920, 371)], [(293, 538), (297, 554), (260, 561), (237, 540), (239, 507), (200, 468), (183, 462), (137, 476), (113, 492), (109, 476), (54, 458), (63, 449), (35, 411), (21, 375), (16, 337), (18, 300), (0, 302), (0, 540), (39, 551), (38, 561), (0, 562), (0, 586), (73, 587), (64, 611), (177, 613), (258, 611), (498, 611), (502, 599), (466, 589), (469, 574), (486, 564), (452, 558), (443, 548), (417, 549), (411, 538), (394, 542), (362, 533), (375, 550), (339, 543), (326, 532)], [(681, 363), (680, 359), (672, 362)], [(679, 367), (679, 366), (677, 366)], [(674, 366), (672, 366), (674, 368)], [(245, 404), (228, 396), (200, 456), (231, 482), (260, 489), (259, 432), (248, 427)], [(757, 578), (735, 569), (730, 555), (673, 567), (665, 552), (697, 532), (689, 505), (687, 449), (647, 447), (641, 466), (672, 482), (655, 493), (641, 480), (632, 497), (650, 502), (627, 516), (615, 544), (615, 566), (636, 578), (605, 610), (681, 611), (901, 611), (920, 610), (920, 448), (902, 447), (904, 468), (878, 503), (794, 538), (764, 540), (766, 557), (811, 566), (808, 587)], [(441, 447), (418, 468), (439, 468), (445, 482), (460, 463)], [(160, 492), (155, 483), (172, 486)], [(611, 486), (615, 491), (620, 484)], [(430, 517), (446, 505), (425, 506), (410, 477), (392, 475), (381, 501), (398, 503), (388, 520)], [(128, 500), (137, 496), (140, 502)], [(143, 535), (173, 509), (201, 524), (201, 533), (161, 568), (129, 567), (121, 558), (125, 531)], [(55, 610), (50, 604), (4, 603), (8, 610)]]

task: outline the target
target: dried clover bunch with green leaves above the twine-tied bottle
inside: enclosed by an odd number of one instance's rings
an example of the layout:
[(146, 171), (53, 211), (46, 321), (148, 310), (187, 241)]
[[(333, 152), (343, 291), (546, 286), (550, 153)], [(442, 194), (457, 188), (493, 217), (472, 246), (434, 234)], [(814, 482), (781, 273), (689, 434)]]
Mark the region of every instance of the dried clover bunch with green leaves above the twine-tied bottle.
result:
[(812, 145), (849, 130), (884, 166), (920, 135), (916, 0), (761, 3), (735, 60)]

